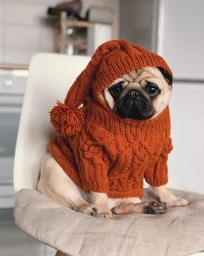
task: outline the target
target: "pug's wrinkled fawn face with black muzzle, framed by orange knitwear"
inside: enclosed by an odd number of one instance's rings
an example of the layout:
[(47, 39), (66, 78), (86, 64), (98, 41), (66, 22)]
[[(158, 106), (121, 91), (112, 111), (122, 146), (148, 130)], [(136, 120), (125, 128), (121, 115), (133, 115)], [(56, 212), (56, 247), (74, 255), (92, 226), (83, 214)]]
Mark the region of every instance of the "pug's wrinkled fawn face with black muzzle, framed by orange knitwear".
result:
[(102, 91), (103, 100), (121, 118), (155, 118), (168, 105), (172, 77), (161, 67), (130, 71)]

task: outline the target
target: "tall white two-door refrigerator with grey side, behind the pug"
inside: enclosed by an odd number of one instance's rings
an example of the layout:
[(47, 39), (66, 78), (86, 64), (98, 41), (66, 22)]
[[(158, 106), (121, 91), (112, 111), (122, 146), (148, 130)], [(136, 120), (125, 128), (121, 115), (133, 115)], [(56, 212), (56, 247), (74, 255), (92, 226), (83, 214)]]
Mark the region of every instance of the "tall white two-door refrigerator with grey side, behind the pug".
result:
[(203, 14), (203, 0), (121, 0), (121, 37), (156, 51), (174, 72), (170, 104), (174, 151), (168, 161), (169, 176), (187, 189), (202, 193)]

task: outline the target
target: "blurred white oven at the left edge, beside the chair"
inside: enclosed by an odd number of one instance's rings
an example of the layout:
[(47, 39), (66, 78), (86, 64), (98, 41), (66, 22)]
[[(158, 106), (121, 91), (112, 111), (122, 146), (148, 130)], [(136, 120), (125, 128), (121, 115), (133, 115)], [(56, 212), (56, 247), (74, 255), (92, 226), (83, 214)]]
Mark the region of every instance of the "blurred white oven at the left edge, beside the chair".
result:
[(0, 70), (0, 208), (14, 204), (13, 164), (28, 71)]

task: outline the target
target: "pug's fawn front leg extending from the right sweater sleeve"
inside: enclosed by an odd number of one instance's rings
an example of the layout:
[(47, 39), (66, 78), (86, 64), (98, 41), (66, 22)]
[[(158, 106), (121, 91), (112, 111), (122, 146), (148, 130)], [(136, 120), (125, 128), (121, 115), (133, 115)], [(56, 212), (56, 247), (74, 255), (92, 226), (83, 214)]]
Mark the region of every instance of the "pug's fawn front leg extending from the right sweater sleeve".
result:
[(166, 203), (168, 206), (183, 206), (188, 205), (186, 199), (176, 198), (171, 192), (168, 191), (166, 185), (153, 186), (155, 195), (161, 200), (161, 203)]

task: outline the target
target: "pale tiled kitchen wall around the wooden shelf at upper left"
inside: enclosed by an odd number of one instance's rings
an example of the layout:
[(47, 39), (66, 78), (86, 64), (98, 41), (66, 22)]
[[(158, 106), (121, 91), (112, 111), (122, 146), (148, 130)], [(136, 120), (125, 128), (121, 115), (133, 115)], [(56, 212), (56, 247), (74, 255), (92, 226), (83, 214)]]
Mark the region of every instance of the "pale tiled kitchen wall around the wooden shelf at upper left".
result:
[[(37, 52), (54, 51), (55, 30), (46, 14), (57, 0), (0, 0), (0, 63), (28, 64)], [(82, 16), (90, 5), (112, 7), (119, 20), (119, 0), (82, 0)]]

